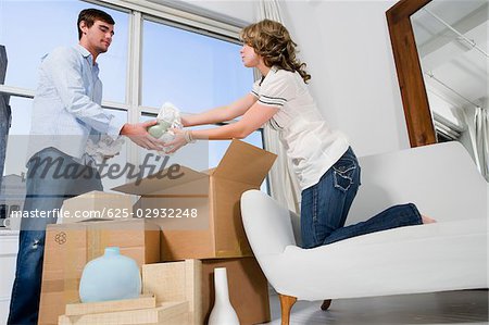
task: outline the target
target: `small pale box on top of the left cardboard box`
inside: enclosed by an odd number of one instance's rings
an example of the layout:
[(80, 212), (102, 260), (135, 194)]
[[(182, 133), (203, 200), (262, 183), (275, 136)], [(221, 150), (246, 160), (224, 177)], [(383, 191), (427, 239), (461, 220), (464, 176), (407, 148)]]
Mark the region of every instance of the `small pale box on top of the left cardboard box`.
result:
[(133, 217), (135, 196), (90, 191), (64, 200), (59, 224), (73, 224), (97, 220), (120, 220)]

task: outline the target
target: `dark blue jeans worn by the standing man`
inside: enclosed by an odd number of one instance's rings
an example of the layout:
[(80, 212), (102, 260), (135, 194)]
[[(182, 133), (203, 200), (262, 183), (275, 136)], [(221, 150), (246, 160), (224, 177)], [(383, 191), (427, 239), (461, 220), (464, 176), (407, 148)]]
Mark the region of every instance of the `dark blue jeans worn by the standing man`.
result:
[[(54, 163), (40, 163), (48, 160)], [(67, 198), (103, 189), (96, 170), (78, 164), (70, 155), (53, 148), (36, 153), (27, 163), (27, 170), (24, 214), (36, 209), (52, 212), (60, 209)], [(55, 222), (55, 214), (22, 220), (8, 324), (37, 324), (46, 226)]]

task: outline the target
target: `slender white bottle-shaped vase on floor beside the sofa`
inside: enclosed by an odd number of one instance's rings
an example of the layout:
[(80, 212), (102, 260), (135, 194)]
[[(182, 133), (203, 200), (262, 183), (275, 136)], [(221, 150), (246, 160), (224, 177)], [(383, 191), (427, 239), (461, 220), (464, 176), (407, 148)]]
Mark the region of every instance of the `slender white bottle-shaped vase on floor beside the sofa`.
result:
[(239, 325), (239, 318), (229, 301), (226, 267), (214, 268), (215, 301), (209, 325)]

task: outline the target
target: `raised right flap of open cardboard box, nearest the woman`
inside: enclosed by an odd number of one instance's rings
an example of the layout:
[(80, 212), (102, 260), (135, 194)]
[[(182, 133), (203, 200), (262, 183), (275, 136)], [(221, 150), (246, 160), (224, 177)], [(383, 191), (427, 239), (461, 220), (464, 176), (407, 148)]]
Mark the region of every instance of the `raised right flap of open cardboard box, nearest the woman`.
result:
[(240, 140), (233, 140), (211, 175), (260, 186), (276, 158), (277, 155), (272, 152)]

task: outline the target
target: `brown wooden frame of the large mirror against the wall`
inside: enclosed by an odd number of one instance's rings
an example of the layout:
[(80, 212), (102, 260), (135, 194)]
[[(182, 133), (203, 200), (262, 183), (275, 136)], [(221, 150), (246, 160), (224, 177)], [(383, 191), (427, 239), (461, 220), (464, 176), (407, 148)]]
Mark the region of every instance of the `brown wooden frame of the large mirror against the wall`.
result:
[(400, 0), (386, 12), (411, 147), (437, 142), (411, 15), (431, 0)]

